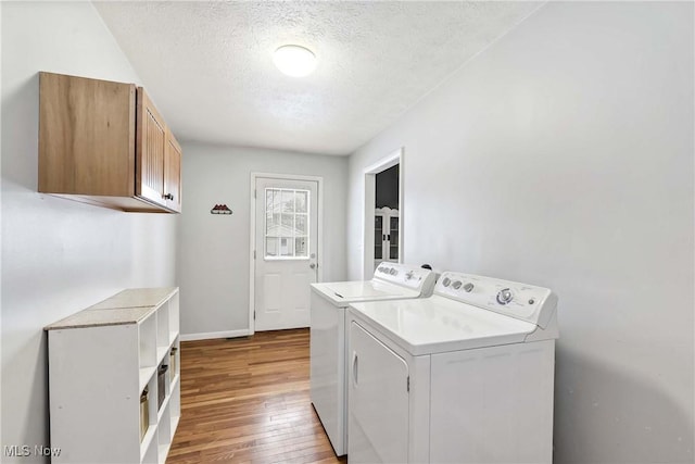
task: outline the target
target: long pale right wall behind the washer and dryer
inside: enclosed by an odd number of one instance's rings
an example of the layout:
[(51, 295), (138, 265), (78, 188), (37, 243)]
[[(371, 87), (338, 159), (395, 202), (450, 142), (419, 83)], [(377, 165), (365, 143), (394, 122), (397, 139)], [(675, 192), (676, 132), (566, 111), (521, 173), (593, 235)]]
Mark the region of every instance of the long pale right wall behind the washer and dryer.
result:
[(555, 462), (693, 462), (693, 3), (552, 2), (350, 160), (405, 147), (405, 260), (559, 294)]

